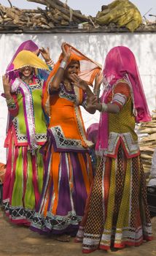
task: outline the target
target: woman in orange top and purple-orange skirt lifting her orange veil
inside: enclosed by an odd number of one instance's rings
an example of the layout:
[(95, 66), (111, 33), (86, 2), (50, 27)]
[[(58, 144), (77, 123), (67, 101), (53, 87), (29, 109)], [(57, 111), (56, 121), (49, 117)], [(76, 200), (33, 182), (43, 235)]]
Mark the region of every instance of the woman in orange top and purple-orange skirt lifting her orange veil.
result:
[[(89, 68), (82, 72), (82, 65)], [(61, 241), (69, 241), (66, 234), (77, 233), (82, 219), (85, 201), (93, 179), (89, 146), (79, 105), (85, 108), (86, 93), (74, 86), (71, 77), (85, 74), (91, 83), (101, 70), (77, 49), (62, 45), (62, 54), (50, 74), (44, 91), (43, 105), (50, 113), (47, 143), (42, 148), (45, 159), (45, 174), (42, 196), (31, 229), (39, 233), (58, 234)], [(93, 94), (89, 87), (87, 94)], [(48, 107), (47, 107), (48, 105)], [(95, 110), (90, 110), (94, 113)]]

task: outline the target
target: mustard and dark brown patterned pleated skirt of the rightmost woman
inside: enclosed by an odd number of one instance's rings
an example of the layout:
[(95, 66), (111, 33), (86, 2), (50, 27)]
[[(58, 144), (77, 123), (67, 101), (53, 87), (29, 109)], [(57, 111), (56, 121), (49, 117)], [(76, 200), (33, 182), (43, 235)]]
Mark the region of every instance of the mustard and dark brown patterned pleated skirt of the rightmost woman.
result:
[(99, 157), (93, 187), (76, 241), (82, 252), (139, 246), (152, 240), (147, 189), (140, 157)]

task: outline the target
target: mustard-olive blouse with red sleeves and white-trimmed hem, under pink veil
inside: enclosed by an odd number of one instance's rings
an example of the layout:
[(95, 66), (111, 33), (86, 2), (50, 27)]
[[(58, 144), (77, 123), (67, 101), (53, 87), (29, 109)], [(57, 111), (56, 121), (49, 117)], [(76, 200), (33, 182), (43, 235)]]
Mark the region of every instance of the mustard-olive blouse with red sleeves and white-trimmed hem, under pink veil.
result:
[(130, 86), (125, 80), (120, 80), (109, 94), (108, 102), (117, 104), (120, 113), (109, 113), (109, 147), (106, 153), (109, 157), (117, 157), (117, 150), (122, 143), (128, 158), (140, 154), (138, 136), (135, 129), (133, 115), (133, 101)]

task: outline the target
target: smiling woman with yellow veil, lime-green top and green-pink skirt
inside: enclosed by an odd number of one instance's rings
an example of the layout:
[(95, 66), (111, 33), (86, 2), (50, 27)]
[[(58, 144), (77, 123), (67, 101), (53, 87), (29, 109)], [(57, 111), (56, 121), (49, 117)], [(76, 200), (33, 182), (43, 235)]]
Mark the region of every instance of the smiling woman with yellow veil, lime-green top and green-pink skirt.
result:
[[(50, 67), (36, 56), (39, 52), (45, 61), (50, 58), (48, 50), (39, 50), (31, 40), (23, 42), (3, 76), (9, 116), (3, 206), (9, 220), (17, 225), (30, 225), (43, 184), (44, 162), (39, 148), (47, 139), (47, 120), (42, 97)], [(42, 78), (38, 70), (44, 72)]]

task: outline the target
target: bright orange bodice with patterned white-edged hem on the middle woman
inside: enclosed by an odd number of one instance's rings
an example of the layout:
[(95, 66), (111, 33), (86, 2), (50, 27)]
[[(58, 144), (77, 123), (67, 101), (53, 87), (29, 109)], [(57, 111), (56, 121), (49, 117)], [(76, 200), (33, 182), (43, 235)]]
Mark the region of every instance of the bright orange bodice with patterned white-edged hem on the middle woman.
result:
[[(50, 125), (55, 143), (59, 141), (57, 148), (68, 150), (84, 150), (90, 145), (86, 138), (85, 126), (82, 120), (79, 105), (82, 105), (82, 90), (66, 91), (64, 86), (61, 90), (50, 97)], [(74, 147), (71, 147), (71, 144)]]

